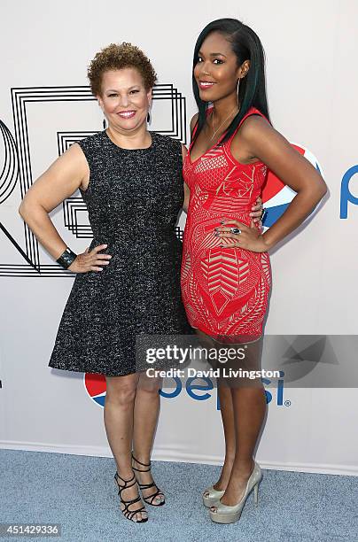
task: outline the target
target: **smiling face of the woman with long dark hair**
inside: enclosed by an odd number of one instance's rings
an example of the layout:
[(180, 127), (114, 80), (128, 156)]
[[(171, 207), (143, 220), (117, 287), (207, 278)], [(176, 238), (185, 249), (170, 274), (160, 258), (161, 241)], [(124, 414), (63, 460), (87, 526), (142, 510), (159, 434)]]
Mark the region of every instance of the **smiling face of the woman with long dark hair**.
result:
[(204, 102), (214, 102), (237, 92), (237, 80), (248, 69), (249, 61), (237, 67), (237, 56), (231, 44), (219, 32), (209, 34), (198, 51), (194, 77), (199, 96)]

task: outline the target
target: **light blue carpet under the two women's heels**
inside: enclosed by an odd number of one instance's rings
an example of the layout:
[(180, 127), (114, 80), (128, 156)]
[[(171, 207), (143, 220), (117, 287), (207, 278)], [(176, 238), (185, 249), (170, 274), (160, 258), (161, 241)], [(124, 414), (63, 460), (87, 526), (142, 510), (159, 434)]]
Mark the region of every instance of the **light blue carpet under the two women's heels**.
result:
[[(58, 542), (357, 542), (358, 478), (264, 470), (241, 519), (213, 523), (200, 493), (219, 467), (153, 462), (164, 507), (134, 524), (119, 511), (114, 461), (60, 453), (0, 450), (2, 523), (61, 523)], [(34, 538), (1, 538), (30, 540)]]

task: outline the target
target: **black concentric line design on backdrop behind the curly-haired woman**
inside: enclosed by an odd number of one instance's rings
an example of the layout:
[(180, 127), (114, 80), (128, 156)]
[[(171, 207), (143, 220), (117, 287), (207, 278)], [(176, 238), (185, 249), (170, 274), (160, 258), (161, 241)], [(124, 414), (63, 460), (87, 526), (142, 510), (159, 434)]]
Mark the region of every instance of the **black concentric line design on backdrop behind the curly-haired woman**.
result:
[[(171, 102), (171, 123), (169, 129), (157, 129), (160, 134), (166, 134), (182, 143), (186, 143), (186, 100), (181, 92), (178, 92), (172, 84), (156, 85), (152, 91), (153, 100), (170, 100)], [(66, 87), (24, 87), (12, 89), (12, 113), (15, 128), (16, 143), (12, 134), (0, 120), (0, 129), (3, 132), (5, 143), (5, 166), (0, 174), (0, 204), (5, 186), (5, 199), (9, 197), (15, 188), (19, 178), (19, 189), (21, 198), (33, 183), (31, 167), (30, 144), (27, 127), (27, 104), (41, 102), (75, 102), (95, 101), (90, 87), (87, 86), (66, 86)], [(76, 141), (89, 136), (95, 132), (58, 132), (58, 155)], [(5, 139), (6, 138), (6, 139)], [(7, 146), (6, 146), (7, 145)], [(7, 152), (7, 154), (6, 154)], [(12, 157), (12, 158), (11, 158)], [(6, 161), (7, 160), (7, 161)], [(8, 171), (9, 170), (9, 171)], [(10, 174), (10, 172), (12, 172)], [(10, 175), (10, 177), (9, 177)], [(10, 178), (10, 182), (9, 182)], [(7, 182), (7, 184), (6, 184)], [(90, 224), (82, 221), (87, 208), (82, 197), (69, 197), (63, 204), (64, 226), (77, 238), (91, 238), (92, 231)], [(58, 264), (45, 265), (40, 261), (40, 252), (37, 239), (24, 222), (25, 252), (11, 236), (10, 232), (0, 224), (0, 229), (12, 242), (15, 248), (27, 263), (23, 265), (0, 264), (0, 275), (3, 276), (74, 276), (73, 273), (62, 269)], [(183, 238), (183, 231), (176, 228), (179, 238)]]

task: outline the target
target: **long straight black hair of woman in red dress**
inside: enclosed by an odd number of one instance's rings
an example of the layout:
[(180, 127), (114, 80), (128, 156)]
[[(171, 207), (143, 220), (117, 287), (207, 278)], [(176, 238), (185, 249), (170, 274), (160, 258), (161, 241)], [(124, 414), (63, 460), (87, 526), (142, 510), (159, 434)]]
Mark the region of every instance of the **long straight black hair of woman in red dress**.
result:
[(221, 143), (224, 143), (235, 132), (250, 107), (256, 107), (269, 120), (265, 84), (265, 53), (259, 36), (253, 32), (252, 28), (247, 27), (237, 19), (217, 19), (206, 25), (195, 44), (192, 66), (192, 89), (198, 105), (198, 128), (195, 136), (192, 138), (193, 142), (204, 128), (206, 123), (206, 109), (208, 107), (208, 103), (200, 99), (198, 83), (194, 77), (194, 68), (198, 64), (198, 51), (206, 37), (212, 32), (222, 33), (231, 43), (231, 48), (237, 56), (237, 66), (241, 66), (245, 60), (250, 60), (250, 69), (245, 77), (240, 80), (238, 87), (237, 102), (239, 112), (231, 121), (225, 136), (222, 138)]

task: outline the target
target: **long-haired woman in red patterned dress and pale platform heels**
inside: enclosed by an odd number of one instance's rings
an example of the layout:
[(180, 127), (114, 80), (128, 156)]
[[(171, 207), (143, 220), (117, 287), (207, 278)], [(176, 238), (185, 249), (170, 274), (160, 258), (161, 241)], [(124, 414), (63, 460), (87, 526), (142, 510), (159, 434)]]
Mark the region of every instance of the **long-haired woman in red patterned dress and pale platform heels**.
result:
[[(194, 50), (193, 89), (198, 113), (183, 164), (189, 197), (183, 301), (202, 342), (245, 344), (248, 361), (257, 368), (271, 285), (268, 251), (300, 226), (326, 185), (270, 124), (264, 52), (250, 27), (219, 19), (204, 28)], [(297, 195), (262, 233), (249, 213), (268, 168)], [(261, 381), (228, 386), (223, 380), (218, 387), (225, 461), (203, 499), (214, 522), (233, 523), (253, 489), (257, 502), (262, 475), (253, 453), (266, 396)]]

